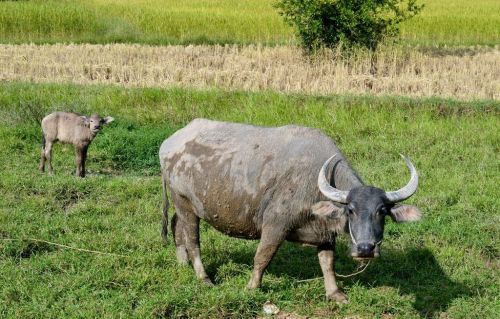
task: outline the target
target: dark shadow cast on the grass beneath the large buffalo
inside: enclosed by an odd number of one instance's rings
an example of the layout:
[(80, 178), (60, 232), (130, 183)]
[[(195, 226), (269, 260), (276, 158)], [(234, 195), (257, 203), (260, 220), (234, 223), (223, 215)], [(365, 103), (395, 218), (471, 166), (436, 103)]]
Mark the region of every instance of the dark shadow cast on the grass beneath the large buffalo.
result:
[[(335, 263), (338, 273), (349, 274), (357, 267), (357, 263), (347, 252), (347, 245), (339, 243)], [(383, 250), (382, 253), (383, 256), (372, 262), (362, 274), (337, 280), (342, 282), (344, 287), (350, 287), (357, 282), (367, 289), (388, 286), (398, 289), (401, 295), (413, 295), (414, 309), (425, 318), (446, 311), (454, 299), (472, 294), (470, 287), (451, 280), (445, 274), (433, 253), (427, 248), (413, 248), (407, 251)], [(251, 269), (254, 254), (255, 250), (245, 247), (228, 251), (224, 259), (245, 264)], [(208, 266), (208, 273), (213, 277), (219, 265), (212, 263)], [(266, 272), (276, 276), (288, 276), (294, 280), (322, 277), (316, 249), (287, 242), (282, 245)], [(263, 289), (266, 290), (265, 287)]]

